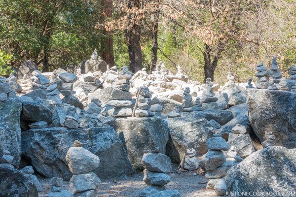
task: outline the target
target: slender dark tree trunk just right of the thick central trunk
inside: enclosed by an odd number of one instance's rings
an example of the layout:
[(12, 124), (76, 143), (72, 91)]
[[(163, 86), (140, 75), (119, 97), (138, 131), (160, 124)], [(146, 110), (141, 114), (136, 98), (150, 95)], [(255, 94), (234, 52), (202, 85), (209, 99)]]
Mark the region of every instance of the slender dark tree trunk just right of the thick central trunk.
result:
[(156, 63), (157, 63), (157, 33), (158, 33), (158, 16), (159, 13), (155, 12), (153, 14), (153, 27), (152, 27), (152, 48), (151, 48), (151, 66), (149, 73), (155, 70)]

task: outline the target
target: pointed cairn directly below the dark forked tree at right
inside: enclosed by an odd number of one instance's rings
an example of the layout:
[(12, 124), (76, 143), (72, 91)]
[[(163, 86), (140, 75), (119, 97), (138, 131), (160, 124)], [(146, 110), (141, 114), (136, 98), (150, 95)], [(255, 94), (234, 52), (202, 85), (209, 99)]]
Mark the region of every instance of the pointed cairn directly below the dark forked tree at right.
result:
[(204, 90), (202, 93), (202, 109), (219, 109), (218, 103), (216, 101), (218, 100), (217, 97), (215, 97), (215, 93), (213, 92), (213, 83), (211, 81), (211, 78), (206, 79), (206, 84), (204, 85)]

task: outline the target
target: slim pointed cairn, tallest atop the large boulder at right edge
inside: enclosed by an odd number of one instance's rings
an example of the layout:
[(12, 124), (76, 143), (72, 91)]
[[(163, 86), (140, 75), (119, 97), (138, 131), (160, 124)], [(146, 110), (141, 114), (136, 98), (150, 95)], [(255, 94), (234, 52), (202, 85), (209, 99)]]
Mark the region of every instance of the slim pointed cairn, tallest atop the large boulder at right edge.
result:
[(276, 58), (272, 59), (270, 70), (268, 71), (269, 75), (269, 86), (268, 90), (278, 90), (279, 89), (279, 83), (280, 79), (282, 78), (281, 70), (278, 67), (278, 64), (276, 62)]

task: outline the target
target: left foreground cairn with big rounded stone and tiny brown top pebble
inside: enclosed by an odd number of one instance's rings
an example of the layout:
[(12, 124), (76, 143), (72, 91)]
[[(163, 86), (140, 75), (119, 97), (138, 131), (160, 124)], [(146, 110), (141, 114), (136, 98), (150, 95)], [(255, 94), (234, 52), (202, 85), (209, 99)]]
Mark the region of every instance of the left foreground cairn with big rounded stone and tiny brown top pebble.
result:
[(99, 157), (82, 148), (82, 144), (75, 140), (67, 152), (66, 160), (73, 173), (69, 186), (74, 197), (96, 197), (101, 180), (93, 171), (99, 167)]

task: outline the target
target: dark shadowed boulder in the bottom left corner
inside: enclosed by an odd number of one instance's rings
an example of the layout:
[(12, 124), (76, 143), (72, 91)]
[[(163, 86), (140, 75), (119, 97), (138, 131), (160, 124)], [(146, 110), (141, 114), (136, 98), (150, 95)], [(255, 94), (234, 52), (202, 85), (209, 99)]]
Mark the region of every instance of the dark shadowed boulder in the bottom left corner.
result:
[(0, 164), (0, 177), (2, 197), (38, 197), (35, 185), (19, 170)]

